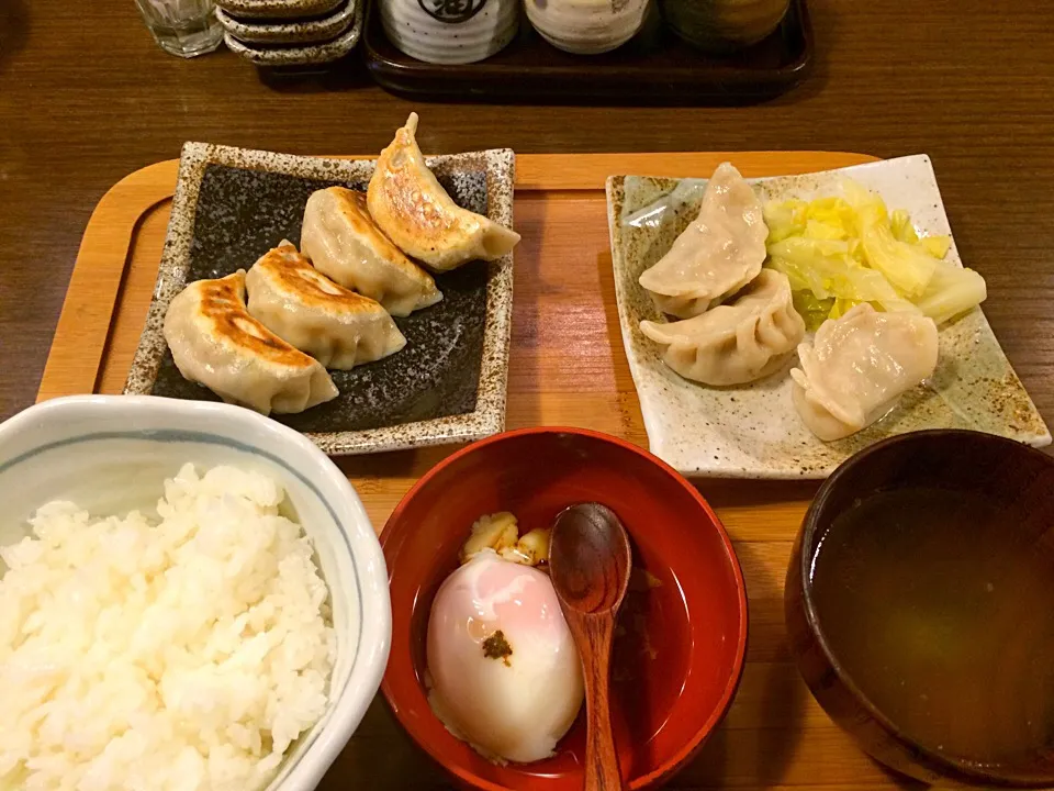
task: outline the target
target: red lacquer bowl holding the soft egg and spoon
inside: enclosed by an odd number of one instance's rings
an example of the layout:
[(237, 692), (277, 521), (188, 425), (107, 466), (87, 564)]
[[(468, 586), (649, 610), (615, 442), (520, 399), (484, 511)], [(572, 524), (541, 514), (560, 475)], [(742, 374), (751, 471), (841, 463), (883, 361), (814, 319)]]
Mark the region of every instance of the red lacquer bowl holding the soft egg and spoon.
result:
[[(457, 568), (482, 514), (512, 511), (522, 531), (564, 508), (606, 504), (651, 576), (620, 613), (613, 721), (630, 789), (669, 780), (699, 749), (736, 694), (747, 651), (747, 592), (725, 528), (672, 468), (628, 443), (576, 428), (528, 428), (475, 443), (439, 464), (381, 534), (392, 595), (392, 651), (382, 690), (414, 740), (462, 788), (579, 791), (583, 717), (557, 755), (494, 766), (451, 736), (426, 699), (425, 634), (433, 598)], [(654, 586), (658, 580), (659, 584)]]

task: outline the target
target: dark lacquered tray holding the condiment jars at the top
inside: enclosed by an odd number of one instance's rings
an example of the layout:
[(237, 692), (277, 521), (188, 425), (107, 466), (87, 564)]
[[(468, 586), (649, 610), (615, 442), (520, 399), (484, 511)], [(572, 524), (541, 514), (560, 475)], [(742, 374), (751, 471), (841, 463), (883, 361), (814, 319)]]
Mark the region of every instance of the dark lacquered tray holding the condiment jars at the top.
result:
[(685, 44), (652, 14), (644, 30), (615, 52), (581, 56), (557, 49), (523, 18), (516, 40), (497, 55), (440, 66), (396, 49), (384, 34), (374, 0), (361, 46), (373, 79), (413, 98), (730, 104), (770, 99), (805, 79), (812, 59), (812, 26), (806, 0), (792, 0), (772, 35), (719, 58)]

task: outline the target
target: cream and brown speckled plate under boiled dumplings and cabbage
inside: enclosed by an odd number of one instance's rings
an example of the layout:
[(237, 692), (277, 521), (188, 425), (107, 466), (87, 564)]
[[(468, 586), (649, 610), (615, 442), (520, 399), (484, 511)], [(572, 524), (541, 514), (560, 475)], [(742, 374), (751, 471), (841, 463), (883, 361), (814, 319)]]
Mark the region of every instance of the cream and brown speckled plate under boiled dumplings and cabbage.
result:
[[(907, 209), (917, 229), (951, 234), (926, 156), (752, 183), (763, 201), (809, 200), (837, 194), (843, 175), (882, 194), (890, 209)], [(607, 183), (623, 342), (653, 454), (685, 475), (826, 478), (865, 445), (920, 428), (974, 428), (1050, 444), (1050, 431), (980, 309), (941, 327), (940, 364), (931, 381), (908, 392), (877, 423), (833, 443), (817, 439), (794, 409), (788, 371), (795, 357), (773, 376), (735, 388), (707, 388), (674, 374), (640, 332), (641, 320), (663, 317), (637, 279), (698, 213), (705, 186), (700, 179), (639, 176), (614, 176)], [(954, 242), (948, 259), (962, 266)]]

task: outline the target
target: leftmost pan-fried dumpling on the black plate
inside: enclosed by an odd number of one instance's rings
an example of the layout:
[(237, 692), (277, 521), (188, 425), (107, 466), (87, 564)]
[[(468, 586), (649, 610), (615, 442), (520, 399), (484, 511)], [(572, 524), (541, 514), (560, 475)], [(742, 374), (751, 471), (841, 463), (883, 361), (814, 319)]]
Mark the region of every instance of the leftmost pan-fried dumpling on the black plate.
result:
[(224, 401), (269, 414), (303, 412), (337, 397), (318, 360), (249, 315), (244, 269), (176, 294), (164, 333), (179, 372)]

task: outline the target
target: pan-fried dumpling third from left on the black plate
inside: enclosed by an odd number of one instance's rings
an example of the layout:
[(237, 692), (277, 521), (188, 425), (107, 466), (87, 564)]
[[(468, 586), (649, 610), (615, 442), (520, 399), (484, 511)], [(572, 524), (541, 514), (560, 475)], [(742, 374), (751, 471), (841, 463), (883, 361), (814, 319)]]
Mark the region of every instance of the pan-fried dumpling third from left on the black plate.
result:
[(370, 218), (366, 193), (344, 187), (313, 192), (300, 248), (323, 275), (407, 316), (442, 299), (431, 275), (392, 244)]

